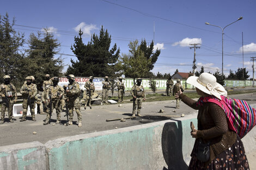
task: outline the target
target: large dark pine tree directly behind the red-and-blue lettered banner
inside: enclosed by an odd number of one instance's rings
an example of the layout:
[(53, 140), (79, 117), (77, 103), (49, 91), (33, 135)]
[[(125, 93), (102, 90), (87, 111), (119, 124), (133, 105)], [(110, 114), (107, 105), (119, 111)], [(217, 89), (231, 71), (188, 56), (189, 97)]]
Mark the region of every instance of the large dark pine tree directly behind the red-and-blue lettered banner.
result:
[(80, 30), (78, 36), (75, 36), (75, 43), (71, 46), (72, 52), (76, 55), (77, 61), (71, 59), (71, 65), (68, 67), (66, 74), (74, 74), (75, 76), (89, 77), (114, 77), (117, 72), (115, 66), (120, 49), (117, 45), (109, 49), (111, 45), (111, 36), (107, 30), (100, 30), (100, 35), (93, 34), (91, 40), (84, 45), (82, 40), (83, 32)]

